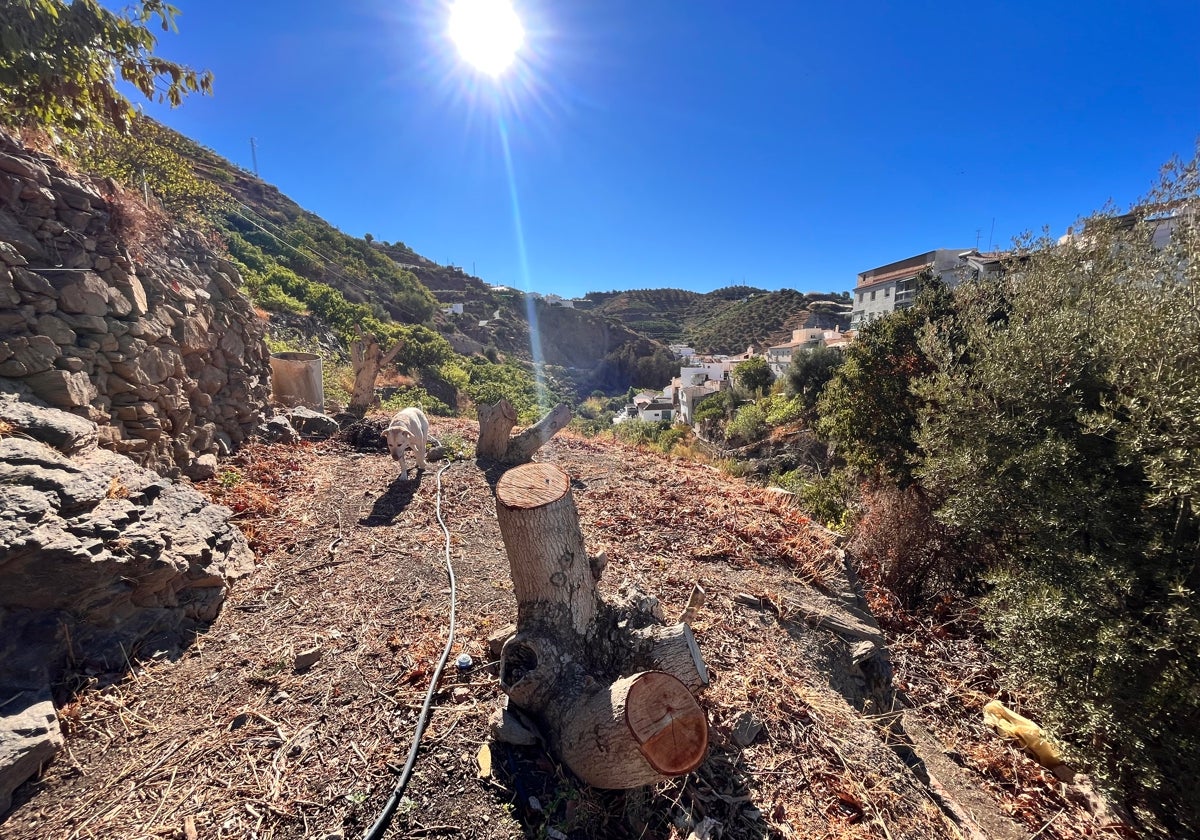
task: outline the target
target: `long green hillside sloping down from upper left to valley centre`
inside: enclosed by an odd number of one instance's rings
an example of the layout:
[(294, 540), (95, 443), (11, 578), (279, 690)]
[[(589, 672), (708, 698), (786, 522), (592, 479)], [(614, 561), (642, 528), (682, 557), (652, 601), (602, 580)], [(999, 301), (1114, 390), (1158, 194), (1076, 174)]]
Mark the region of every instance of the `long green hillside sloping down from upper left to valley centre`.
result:
[[(144, 181), (173, 217), (212, 228), (253, 301), (293, 330), (302, 326), (296, 316), (307, 316), (312, 324), (301, 331), (310, 335), (332, 330), (344, 342), (361, 325), (403, 340), (412, 349), (401, 362), (424, 367), (425, 379), (438, 376), (431, 365), (451, 350), (494, 350), (560, 368), (560, 388), (578, 394), (666, 382), (661, 364), (636, 364), (655, 354), (661, 361), (666, 349), (632, 329), (602, 314), (530, 306), (522, 293), (493, 289), (403, 242), (344, 234), (276, 187), (150, 120), (139, 120), (131, 138), (80, 144), (76, 157), (89, 172), (134, 187)], [(443, 314), (443, 305), (456, 302), (464, 305), (463, 314)], [(538, 319), (533, 330), (530, 314)], [(536, 348), (532, 334), (540, 338)], [(635, 382), (648, 370), (653, 379)], [(452, 390), (428, 384), (443, 394)]]

